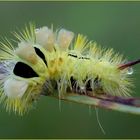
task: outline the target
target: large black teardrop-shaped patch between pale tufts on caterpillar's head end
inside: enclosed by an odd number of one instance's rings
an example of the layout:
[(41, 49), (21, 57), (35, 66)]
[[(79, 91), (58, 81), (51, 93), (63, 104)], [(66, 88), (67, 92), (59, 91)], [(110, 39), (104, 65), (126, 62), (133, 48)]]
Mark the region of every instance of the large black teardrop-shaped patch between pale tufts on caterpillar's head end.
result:
[(13, 72), (15, 75), (24, 78), (38, 77), (38, 74), (30, 66), (23, 62), (17, 62)]

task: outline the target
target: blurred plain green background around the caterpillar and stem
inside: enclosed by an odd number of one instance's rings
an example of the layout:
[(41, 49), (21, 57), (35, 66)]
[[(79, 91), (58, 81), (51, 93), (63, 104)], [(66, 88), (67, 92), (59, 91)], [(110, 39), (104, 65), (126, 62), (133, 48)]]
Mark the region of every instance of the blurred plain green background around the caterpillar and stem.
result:
[[(0, 36), (33, 21), (37, 27), (64, 27), (83, 33), (128, 60), (140, 57), (140, 2), (0, 2)], [(140, 66), (134, 67), (134, 93), (140, 96)], [(23, 117), (0, 107), (0, 138), (140, 138), (140, 116), (95, 109), (42, 97)]]

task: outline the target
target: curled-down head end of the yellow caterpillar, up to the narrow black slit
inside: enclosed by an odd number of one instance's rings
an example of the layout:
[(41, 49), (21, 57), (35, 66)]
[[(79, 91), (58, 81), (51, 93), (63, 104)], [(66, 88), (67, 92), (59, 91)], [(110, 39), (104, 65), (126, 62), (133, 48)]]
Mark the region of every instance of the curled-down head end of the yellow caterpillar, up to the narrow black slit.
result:
[(41, 93), (47, 62), (40, 46), (28, 42), (20, 42), (12, 54), (13, 59), (1, 63), (1, 101), (7, 110), (22, 114)]

